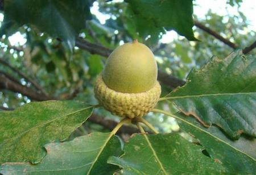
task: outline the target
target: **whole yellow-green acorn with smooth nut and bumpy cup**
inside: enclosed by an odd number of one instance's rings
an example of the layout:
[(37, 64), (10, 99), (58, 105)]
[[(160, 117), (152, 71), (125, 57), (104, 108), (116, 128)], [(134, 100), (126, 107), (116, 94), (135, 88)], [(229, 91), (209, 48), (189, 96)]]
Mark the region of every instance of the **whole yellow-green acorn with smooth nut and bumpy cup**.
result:
[(151, 111), (161, 94), (154, 54), (137, 40), (110, 54), (94, 86), (95, 97), (114, 115), (136, 118)]

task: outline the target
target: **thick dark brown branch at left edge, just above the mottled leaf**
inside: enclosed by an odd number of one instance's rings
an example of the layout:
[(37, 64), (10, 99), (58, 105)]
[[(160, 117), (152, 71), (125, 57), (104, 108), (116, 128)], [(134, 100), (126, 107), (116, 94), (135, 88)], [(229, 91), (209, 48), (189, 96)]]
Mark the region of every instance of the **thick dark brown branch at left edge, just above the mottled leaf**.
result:
[(0, 72), (0, 88), (23, 94), (36, 101), (46, 101), (52, 99), (44, 94), (40, 94), (32, 90), (30, 87), (21, 85), (19, 81), (15, 80), (13, 77), (4, 72)]

